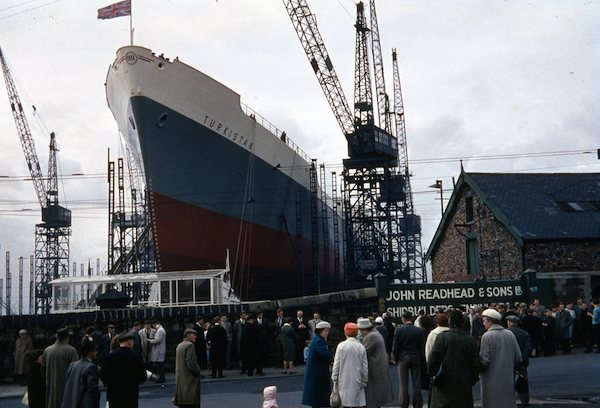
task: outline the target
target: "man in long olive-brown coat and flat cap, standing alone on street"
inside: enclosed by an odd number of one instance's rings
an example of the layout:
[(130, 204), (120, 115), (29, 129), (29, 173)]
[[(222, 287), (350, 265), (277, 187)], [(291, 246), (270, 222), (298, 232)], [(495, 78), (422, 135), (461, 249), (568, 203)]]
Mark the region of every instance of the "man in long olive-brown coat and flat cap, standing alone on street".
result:
[(175, 350), (175, 396), (173, 403), (181, 408), (200, 407), (200, 365), (194, 343), (198, 332), (185, 329), (183, 341)]

